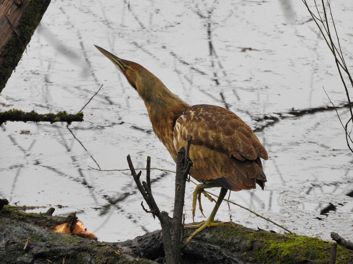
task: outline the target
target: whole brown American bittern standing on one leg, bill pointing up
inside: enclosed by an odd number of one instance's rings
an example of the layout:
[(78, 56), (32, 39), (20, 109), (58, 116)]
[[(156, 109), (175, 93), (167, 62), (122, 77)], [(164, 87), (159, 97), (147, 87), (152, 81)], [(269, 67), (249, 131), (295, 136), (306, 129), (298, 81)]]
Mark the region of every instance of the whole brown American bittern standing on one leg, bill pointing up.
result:
[(187, 242), (205, 227), (224, 224), (214, 220), (228, 190), (254, 189), (256, 183), (264, 189), (266, 176), (260, 158), (268, 159), (267, 151), (236, 114), (214, 105), (190, 106), (141, 65), (96, 48), (114, 63), (143, 99), (153, 131), (175, 162), (178, 151), (181, 147), (186, 148), (187, 139), (192, 135), (190, 175), (202, 183), (193, 195), (193, 216), (200, 192), (205, 188), (221, 187), (209, 218), (200, 225), (185, 227), (198, 228)]

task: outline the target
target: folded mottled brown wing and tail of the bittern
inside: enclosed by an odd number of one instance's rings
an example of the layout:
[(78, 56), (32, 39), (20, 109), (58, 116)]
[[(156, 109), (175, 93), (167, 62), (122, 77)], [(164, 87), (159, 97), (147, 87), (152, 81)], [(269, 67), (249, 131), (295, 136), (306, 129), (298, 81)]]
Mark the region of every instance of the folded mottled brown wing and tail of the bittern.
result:
[(236, 114), (213, 105), (186, 108), (174, 125), (178, 152), (192, 136), (190, 174), (201, 182), (213, 182), (229, 190), (262, 188), (266, 176), (260, 157), (267, 152), (251, 128)]

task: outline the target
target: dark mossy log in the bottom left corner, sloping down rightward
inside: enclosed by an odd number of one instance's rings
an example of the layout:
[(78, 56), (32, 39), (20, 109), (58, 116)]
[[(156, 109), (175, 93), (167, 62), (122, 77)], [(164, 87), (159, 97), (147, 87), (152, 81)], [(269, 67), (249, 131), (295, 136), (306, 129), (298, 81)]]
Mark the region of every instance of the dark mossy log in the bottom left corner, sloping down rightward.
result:
[(0, 263), (156, 263), (136, 259), (114, 243), (50, 231), (68, 221), (70, 218), (27, 214), (5, 206), (0, 212)]

